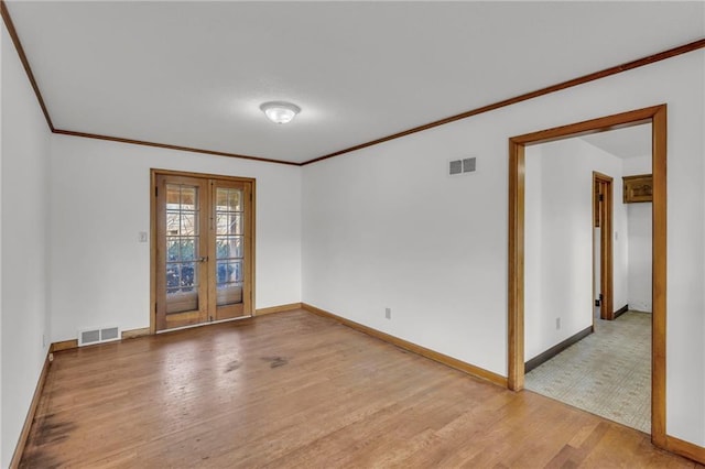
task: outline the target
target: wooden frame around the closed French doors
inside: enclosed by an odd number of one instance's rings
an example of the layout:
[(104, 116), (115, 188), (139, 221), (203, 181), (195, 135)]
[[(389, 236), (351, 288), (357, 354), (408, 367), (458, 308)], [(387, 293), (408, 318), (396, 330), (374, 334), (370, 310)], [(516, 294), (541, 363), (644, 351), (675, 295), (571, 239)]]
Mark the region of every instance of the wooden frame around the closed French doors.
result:
[[(161, 168), (150, 168), (150, 334), (154, 335), (158, 332), (156, 330), (156, 176), (158, 175), (166, 175), (166, 176), (185, 176), (185, 177), (200, 177), (205, 179), (220, 179), (220, 181), (232, 181), (232, 182), (246, 182), (250, 183), (252, 187), (252, 200), (250, 203), (250, 214), (246, 214), (247, 220), (250, 222), (251, 238), (247, 238), (247, 248), (246, 248), (246, 257), (249, 257), (250, 262), (246, 268), (246, 275), (250, 275), (250, 296), (248, 298), (249, 303), (249, 315), (254, 315), (254, 305), (256, 305), (256, 239), (257, 239), (257, 179), (252, 177), (239, 177), (239, 176), (226, 176), (221, 174), (209, 174), (209, 173), (193, 173), (193, 172), (184, 172), (184, 171), (173, 171), (173, 170), (161, 170)], [(243, 302), (245, 292), (243, 292)], [(246, 303), (246, 305), (247, 305)], [(237, 320), (228, 319), (228, 320)], [(206, 323), (207, 324), (207, 323)]]

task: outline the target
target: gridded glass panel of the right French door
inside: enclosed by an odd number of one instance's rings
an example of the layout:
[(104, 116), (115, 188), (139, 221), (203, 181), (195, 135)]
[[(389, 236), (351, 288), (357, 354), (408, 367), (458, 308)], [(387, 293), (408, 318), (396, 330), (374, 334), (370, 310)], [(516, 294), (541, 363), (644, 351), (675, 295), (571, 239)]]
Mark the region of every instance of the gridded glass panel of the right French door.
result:
[(216, 304), (242, 303), (242, 190), (216, 188)]

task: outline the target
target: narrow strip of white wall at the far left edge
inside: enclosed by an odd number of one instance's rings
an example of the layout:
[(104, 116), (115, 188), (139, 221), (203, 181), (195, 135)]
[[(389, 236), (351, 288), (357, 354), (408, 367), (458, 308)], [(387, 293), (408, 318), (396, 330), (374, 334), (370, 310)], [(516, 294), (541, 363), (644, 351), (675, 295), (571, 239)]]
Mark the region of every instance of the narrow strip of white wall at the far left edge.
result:
[(4, 23), (2, 29), (0, 465), (8, 467), (51, 335), (46, 237), (50, 132)]

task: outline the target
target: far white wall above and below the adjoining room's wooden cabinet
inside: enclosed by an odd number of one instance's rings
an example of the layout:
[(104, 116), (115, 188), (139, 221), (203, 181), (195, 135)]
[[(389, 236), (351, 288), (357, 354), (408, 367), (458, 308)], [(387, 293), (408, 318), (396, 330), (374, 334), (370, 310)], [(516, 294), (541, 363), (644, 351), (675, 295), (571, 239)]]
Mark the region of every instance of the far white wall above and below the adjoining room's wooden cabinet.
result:
[[(651, 155), (625, 160), (625, 176), (651, 174)], [(627, 204), (629, 220), (629, 308), (651, 313), (652, 204)]]

